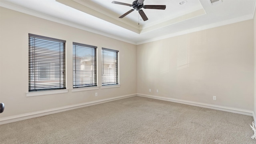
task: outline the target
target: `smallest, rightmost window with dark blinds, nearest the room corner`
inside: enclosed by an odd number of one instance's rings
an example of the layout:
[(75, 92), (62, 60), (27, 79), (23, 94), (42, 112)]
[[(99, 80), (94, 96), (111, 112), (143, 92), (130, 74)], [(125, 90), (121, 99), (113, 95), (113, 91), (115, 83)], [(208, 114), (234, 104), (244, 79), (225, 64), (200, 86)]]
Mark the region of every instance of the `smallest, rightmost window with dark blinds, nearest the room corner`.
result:
[(102, 85), (119, 84), (118, 53), (117, 50), (102, 48)]

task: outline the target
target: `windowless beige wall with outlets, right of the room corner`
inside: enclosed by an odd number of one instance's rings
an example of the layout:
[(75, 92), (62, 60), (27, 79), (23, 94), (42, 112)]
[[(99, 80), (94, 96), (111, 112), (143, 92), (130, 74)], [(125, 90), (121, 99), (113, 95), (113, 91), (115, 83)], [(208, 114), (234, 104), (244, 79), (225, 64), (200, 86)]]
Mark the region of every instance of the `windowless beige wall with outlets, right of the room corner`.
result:
[(247, 20), (140, 44), (137, 92), (252, 111), (253, 35)]

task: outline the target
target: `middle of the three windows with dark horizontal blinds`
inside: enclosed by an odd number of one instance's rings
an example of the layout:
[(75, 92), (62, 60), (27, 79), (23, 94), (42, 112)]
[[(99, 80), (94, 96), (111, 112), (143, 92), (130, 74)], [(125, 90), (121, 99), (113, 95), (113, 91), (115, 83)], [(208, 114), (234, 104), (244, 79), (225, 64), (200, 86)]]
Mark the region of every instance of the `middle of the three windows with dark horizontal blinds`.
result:
[(97, 86), (97, 47), (73, 42), (73, 88)]

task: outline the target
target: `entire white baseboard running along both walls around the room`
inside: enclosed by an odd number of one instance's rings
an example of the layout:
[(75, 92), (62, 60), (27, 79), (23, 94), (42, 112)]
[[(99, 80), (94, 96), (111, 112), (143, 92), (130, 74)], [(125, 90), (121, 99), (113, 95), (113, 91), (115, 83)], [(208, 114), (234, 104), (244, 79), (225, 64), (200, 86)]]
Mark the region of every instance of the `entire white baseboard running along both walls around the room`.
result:
[(174, 99), (174, 98), (167, 98), (167, 97), (161, 97), (161, 96), (152, 96), (152, 95), (148, 95), (148, 94), (128, 94), (128, 95), (124, 95), (124, 96), (106, 98), (106, 99), (96, 100), (96, 101), (92, 101), (92, 102), (85, 102), (85, 103), (82, 103), (82, 104), (74, 104), (74, 105), (70, 105), (70, 106), (63, 106), (63, 107), (52, 108), (52, 109), (48, 109), (48, 110), (41, 110), (41, 111), (37, 111), (37, 112), (30, 112), (30, 113), (26, 113), (26, 114), (8, 116), (8, 117), (0, 118), (0, 124), (7, 124), (7, 123), (10, 123), (10, 122), (26, 120), (26, 119), (29, 119), (29, 118), (36, 118), (36, 117), (39, 117), (39, 116), (45, 116), (45, 115), (48, 115), (48, 114), (64, 112), (64, 111), (73, 110), (73, 109), (76, 109), (76, 108), (83, 108), (83, 107), (86, 107), (86, 106), (102, 104), (102, 103), (111, 102), (111, 101), (114, 101), (114, 100), (130, 98), (130, 97), (133, 97), (133, 96), (141, 96), (141, 97), (153, 98), (153, 99), (157, 99), (157, 100), (165, 100), (165, 101), (176, 102), (176, 103), (180, 103), (180, 104), (188, 104), (188, 105), (192, 105), (192, 106), (210, 108), (210, 109), (214, 109), (214, 110), (222, 110), (222, 111), (225, 111), (225, 112), (233, 112), (233, 113), (237, 113), (237, 114), (244, 114), (244, 115), (248, 115), (248, 116), (253, 116), (254, 122), (256, 122), (255, 113), (253, 111), (250, 111), (250, 110), (244, 110), (244, 109), (238, 109), (238, 108), (232, 108), (232, 107), (226, 107), (226, 106), (218, 106), (218, 105), (213, 105), (213, 104), (206, 104), (206, 103), (180, 100), (180, 99)]

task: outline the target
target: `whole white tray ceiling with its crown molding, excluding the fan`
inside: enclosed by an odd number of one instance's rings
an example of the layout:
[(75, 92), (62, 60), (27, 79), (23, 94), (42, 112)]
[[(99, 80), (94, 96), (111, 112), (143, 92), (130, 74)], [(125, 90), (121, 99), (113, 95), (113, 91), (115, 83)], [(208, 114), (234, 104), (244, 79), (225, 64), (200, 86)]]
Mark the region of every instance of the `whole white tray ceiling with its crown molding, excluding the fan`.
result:
[[(0, 0), (0, 6), (59, 22), (132, 44), (142, 44), (254, 17), (255, 0), (145, 0), (144, 5), (166, 5), (166, 10), (143, 9), (118, 18), (129, 6), (113, 0)], [(115, 0), (132, 4), (134, 0)], [(139, 23), (139, 24), (138, 24)]]

